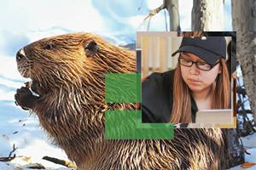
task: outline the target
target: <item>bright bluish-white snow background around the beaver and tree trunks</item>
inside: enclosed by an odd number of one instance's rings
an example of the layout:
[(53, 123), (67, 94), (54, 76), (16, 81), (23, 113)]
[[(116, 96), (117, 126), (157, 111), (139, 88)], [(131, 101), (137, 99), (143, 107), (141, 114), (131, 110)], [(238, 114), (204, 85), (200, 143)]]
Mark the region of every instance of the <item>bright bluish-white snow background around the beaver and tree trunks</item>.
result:
[[(231, 31), (230, 0), (225, 1), (224, 31)], [(38, 126), (38, 117), (30, 116), (15, 105), (17, 88), (28, 80), (16, 68), (15, 54), (23, 46), (43, 37), (85, 31), (100, 35), (115, 44), (135, 43), (136, 31), (146, 31), (148, 20), (141, 26), (150, 10), (158, 8), (162, 0), (9, 0), (0, 2), (0, 157), (16, 155), (13, 161), (0, 161), (0, 169), (17, 169), (29, 163), (41, 163), (46, 169), (67, 170), (55, 163), (44, 161), (44, 156), (68, 161), (63, 150), (51, 144), (47, 134)], [(179, 0), (182, 31), (191, 30), (192, 1)], [(166, 19), (165, 19), (166, 14)], [(167, 12), (160, 11), (150, 21), (149, 31), (169, 29)], [(227, 24), (226, 24), (227, 23)], [(243, 138), (246, 161), (255, 163), (255, 134)], [(254, 167), (255, 169), (256, 167)], [(241, 167), (233, 167), (241, 169)], [(247, 168), (253, 169), (253, 167)], [(28, 168), (23, 168), (28, 170)]]

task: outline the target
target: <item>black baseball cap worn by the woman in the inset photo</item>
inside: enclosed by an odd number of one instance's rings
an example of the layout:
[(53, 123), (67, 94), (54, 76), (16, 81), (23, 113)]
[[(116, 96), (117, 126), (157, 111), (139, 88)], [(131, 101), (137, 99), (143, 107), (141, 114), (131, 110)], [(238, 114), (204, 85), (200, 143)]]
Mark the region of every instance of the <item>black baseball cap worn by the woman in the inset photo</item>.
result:
[(172, 56), (188, 52), (212, 65), (221, 57), (226, 59), (226, 48), (224, 37), (183, 37), (179, 49)]

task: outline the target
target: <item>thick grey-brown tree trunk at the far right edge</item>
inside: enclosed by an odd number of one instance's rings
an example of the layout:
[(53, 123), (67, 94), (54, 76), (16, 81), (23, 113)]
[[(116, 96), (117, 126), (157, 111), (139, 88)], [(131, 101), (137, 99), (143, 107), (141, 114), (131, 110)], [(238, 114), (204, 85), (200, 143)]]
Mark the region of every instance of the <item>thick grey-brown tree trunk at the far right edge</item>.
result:
[(256, 1), (232, 0), (233, 31), (237, 34), (237, 58), (253, 118), (256, 117)]

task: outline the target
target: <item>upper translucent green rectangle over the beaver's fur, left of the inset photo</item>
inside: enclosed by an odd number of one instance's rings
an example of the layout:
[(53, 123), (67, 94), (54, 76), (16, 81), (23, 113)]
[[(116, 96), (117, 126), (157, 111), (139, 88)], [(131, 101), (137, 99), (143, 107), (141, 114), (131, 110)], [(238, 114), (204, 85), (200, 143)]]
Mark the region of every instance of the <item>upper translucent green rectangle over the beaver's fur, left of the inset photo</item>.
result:
[(141, 74), (106, 73), (106, 103), (139, 103), (141, 102)]

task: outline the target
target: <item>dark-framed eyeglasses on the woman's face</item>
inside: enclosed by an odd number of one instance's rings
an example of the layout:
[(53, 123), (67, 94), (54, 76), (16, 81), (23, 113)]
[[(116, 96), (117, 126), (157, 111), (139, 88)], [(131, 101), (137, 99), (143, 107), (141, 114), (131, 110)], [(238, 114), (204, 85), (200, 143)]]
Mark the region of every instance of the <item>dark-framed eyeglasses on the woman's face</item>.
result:
[(218, 65), (218, 63), (220, 61), (218, 61), (217, 63), (211, 65), (211, 64), (208, 64), (208, 63), (204, 63), (204, 62), (195, 62), (195, 61), (192, 61), (190, 59), (184, 59), (184, 58), (178, 58), (178, 62), (181, 64), (181, 65), (184, 65), (184, 66), (192, 66), (194, 63), (196, 65), (196, 67), (202, 71), (210, 71), (215, 65)]

